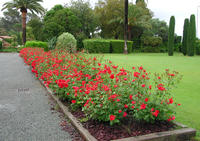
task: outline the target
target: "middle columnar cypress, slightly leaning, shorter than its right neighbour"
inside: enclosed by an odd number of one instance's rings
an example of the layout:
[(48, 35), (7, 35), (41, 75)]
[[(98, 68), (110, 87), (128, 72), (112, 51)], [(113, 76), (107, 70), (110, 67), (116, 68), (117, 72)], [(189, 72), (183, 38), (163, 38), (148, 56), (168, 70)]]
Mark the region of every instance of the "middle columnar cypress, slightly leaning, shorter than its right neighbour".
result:
[(188, 38), (189, 38), (189, 19), (185, 19), (184, 29), (183, 29), (182, 50), (181, 50), (183, 55), (187, 55)]

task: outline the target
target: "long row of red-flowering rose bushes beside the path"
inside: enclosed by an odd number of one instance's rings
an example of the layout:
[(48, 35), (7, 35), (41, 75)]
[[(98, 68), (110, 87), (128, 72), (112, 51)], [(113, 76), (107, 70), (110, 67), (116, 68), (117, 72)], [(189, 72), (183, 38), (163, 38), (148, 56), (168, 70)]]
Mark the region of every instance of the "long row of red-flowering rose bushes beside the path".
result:
[(111, 125), (126, 118), (171, 121), (180, 106), (171, 94), (181, 79), (175, 71), (151, 74), (142, 66), (128, 71), (101, 56), (62, 50), (24, 48), (20, 56), (61, 100), (73, 109), (81, 108), (89, 119)]

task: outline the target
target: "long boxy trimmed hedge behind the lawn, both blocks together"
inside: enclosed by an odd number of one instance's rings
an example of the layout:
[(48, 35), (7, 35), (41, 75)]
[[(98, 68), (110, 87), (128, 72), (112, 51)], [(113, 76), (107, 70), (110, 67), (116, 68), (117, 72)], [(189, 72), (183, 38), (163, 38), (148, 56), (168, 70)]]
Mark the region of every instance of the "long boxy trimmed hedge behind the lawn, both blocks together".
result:
[[(104, 40), (104, 39), (86, 39), (83, 41), (84, 48), (89, 53), (123, 53), (124, 40)], [(128, 52), (132, 52), (133, 42), (128, 41)]]

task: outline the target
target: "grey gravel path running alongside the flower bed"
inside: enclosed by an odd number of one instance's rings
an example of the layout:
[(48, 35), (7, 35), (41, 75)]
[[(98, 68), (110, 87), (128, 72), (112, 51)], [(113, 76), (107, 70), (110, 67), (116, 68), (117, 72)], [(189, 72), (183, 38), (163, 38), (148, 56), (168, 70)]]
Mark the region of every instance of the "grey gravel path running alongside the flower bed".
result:
[(70, 141), (46, 90), (18, 54), (0, 53), (0, 141)]

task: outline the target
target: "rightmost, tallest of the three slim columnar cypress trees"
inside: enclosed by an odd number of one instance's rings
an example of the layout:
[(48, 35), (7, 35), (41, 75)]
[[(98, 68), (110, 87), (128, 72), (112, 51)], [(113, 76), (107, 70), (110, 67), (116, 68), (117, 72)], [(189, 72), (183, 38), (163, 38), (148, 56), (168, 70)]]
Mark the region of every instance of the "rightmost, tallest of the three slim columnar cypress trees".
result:
[(188, 56), (194, 56), (196, 43), (195, 15), (190, 16)]

